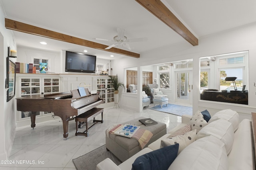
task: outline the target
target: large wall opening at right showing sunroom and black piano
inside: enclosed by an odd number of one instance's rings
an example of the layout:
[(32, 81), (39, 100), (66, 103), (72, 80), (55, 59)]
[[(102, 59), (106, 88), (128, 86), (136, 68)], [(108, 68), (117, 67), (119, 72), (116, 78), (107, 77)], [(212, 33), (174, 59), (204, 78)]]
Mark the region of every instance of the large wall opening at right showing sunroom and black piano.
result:
[[(200, 69), (201, 100), (248, 105), (248, 51), (203, 57)], [(226, 77), (235, 80), (228, 81)], [(208, 91), (203, 92), (204, 89)]]

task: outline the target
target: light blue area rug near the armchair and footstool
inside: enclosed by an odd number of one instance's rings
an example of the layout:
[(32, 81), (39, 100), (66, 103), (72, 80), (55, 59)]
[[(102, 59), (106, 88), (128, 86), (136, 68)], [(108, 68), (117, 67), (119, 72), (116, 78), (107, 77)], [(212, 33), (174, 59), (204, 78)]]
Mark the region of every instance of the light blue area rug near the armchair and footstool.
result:
[(161, 105), (157, 105), (154, 107), (151, 107), (150, 109), (152, 110), (156, 110), (156, 111), (162, 111), (165, 113), (171, 113), (174, 115), (192, 115), (192, 107), (188, 107), (188, 106), (181, 106), (181, 105), (177, 105), (177, 104), (168, 104), (168, 106), (163, 105), (163, 108), (161, 108)]

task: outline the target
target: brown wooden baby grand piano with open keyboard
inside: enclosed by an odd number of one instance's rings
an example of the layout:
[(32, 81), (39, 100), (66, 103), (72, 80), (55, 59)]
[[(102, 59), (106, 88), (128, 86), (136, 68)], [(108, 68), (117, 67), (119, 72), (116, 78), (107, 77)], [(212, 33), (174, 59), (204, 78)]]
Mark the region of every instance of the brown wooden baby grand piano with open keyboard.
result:
[(70, 92), (61, 92), (49, 95), (32, 95), (16, 98), (18, 111), (31, 111), (31, 127), (36, 127), (36, 111), (54, 112), (59, 116), (63, 123), (63, 137), (68, 137), (68, 121), (72, 120), (72, 116), (80, 115), (100, 104), (103, 100), (99, 98), (99, 94), (90, 94), (85, 88), (86, 96), (80, 97), (78, 89)]

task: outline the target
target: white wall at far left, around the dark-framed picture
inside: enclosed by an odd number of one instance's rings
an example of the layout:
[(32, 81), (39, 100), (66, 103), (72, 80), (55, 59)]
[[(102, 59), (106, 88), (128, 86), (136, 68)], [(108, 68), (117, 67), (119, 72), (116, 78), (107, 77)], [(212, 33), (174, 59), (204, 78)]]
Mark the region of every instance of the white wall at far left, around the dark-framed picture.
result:
[[(10, 49), (16, 50), (15, 39), (12, 32), (4, 27), (4, 12), (0, 4), (0, 108), (2, 109), (0, 115), (0, 160), (6, 160), (12, 148), (12, 142), (15, 137), (15, 98), (6, 102), (6, 57), (8, 56), (8, 46)], [(16, 59), (12, 58), (12, 61)]]

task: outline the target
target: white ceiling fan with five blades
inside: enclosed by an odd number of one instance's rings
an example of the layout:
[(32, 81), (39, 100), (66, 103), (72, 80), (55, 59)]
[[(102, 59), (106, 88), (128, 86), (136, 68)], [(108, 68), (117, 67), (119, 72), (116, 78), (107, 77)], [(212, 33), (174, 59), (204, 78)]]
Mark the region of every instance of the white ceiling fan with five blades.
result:
[(114, 44), (106, 47), (105, 49), (111, 49), (112, 47), (115, 47), (117, 45), (122, 45), (122, 47), (125, 47), (127, 49), (131, 49), (130, 45), (128, 43), (133, 43), (133, 42), (140, 42), (140, 41), (148, 41), (147, 38), (133, 38), (133, 39), (127, 39), (126, 36), (124, 36), (125, 29), (117, 28), (117, 35), (114, 36), (113, 40), (108, 40), (108, 39), (101, 39), (101, 38), (95, 38), (97, 40), (102, 40), (102, 41), (111, 41), (115, 42)]

